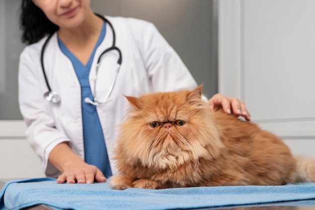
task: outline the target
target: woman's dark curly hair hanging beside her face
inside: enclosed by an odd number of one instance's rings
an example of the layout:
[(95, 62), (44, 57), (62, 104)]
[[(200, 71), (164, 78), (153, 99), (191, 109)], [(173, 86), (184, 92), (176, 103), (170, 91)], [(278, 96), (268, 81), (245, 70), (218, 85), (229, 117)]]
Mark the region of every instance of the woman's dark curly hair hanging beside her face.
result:
[(45, 16), (32, 0), (22, 0), (20, 15), (20, 28), (22, 30), (22, 42), (32, 44), (39, 41), (45, 35), (58, 30), (58, 26)]

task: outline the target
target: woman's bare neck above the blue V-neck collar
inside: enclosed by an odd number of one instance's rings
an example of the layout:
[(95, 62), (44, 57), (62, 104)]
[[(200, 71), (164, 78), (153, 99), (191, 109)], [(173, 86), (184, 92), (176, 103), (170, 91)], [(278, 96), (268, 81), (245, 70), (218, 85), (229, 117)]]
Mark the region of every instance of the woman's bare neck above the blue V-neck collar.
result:
[(75, 28), (59, 28), (58, 36), (63, 43), (84, 43), (95, 36), (99, 36), (103, 20), (89, 10), (87, 17)]

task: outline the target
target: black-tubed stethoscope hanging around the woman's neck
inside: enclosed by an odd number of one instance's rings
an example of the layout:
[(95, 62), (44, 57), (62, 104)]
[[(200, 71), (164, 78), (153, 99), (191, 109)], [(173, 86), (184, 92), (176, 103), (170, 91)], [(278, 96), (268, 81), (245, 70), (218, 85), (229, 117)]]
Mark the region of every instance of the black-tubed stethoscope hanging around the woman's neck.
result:
[[(107, 92), (107, 94), (105, 96), (105, 99), (103, 101), (99, 101), (96, 97), (94, 97), (94, 101), (92, 101), (90, 98), (85, 98), (85, 100), (84, 100), (86, 103), (93, 104), (95, 106), (101, 105), (101, 104), (105, 104), (105, 103), (109, 102), (109, 96), (111, 95), (111, 93), (113, 91), (113, 88), (114, 88), (114, 85), (115, 85), (115, 82), (116, 82), (116, 79), (117, 79), (117, 75), (118, 75), (118, 72), (119, 72), (119, 68), (120, 68), (120, 65), (121, 65), (121, 61), (122, 61), (121, 51), (120, 51), (120, 49), (118, 47), (115, 46), (115, 44), (116, 44), (115, 43), (116, 42), (116, 35), (115, 35), (115, 31), (114, 31), (113, 25), (106, 18), (104, 18), (103, 16), (98, 15), (98, 14), (96, 14), (96, 15), (98, 17), (102, 18), (111, 27), (111, 29), (113, 31), (113, 44), (112, 44), (111, 47), (105, 49), (101, 53), (99, 58), (98, 58), (98, 61), (97, 61), (97, 64), (96, 64), (96, 79), (95, 79), (95, 84), (94, 84), (94, 95), (95, 96), (96, 96), (97, 75), (98, 75), (98, 71), (99, 71), (99, 66), (100, 66), (100, 61), (101, 61), (102, 55), (104, 55), (106, 52), (109, 52), (111, 50), (116, 50), (119, 53), (119, 57), (118, 57), (118, 60), (117, 60), (117, 66), (116, 66), (116, 70), (115, 70), (114, 80), (111, 83), (111, 86), (110, 86), (110, 88), (109, 88), (109, 90), (108, 90), (108, 92)], [(58, 93), (56, 93), (56, 92), (51, 90), (50, 85), (48, 83), (48, 79), (47, 79), (46, 73), (45, 73), (45, 67), (44, 67), (44, 51), (45, 51), (46, 45), (47, 45), (49, 39), (52, 37), (52, 35), (53, 35), (53, 33), (48, 36), (48, 38), (46, 39), (46, 41), (45, 41), (45, 43), (44, 43), (44, 45), (42, 47), (40, 61), (41, 61), (41, 66), (42, 66), (42, 71), (43, 71), (43, 74), (44, 74), (46, 86), (47, 86), (47, 89), (48, 89), (48, 91), (46, 93), (44, 93), (44, 98), (47, 101), (49, 101), (49, 102), (59, 103), (60, 100), (61, 100), (60, 95)]]

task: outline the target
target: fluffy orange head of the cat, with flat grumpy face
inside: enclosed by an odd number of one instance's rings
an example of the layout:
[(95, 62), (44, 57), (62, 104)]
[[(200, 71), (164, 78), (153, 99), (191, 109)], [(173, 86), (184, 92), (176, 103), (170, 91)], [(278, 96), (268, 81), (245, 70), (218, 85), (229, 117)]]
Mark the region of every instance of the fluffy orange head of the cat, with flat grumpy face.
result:
[(201, 87), (126, 98), (131, 107), (118, 137), (126, 161), (163, 170), (218, 156), (223, 146)]

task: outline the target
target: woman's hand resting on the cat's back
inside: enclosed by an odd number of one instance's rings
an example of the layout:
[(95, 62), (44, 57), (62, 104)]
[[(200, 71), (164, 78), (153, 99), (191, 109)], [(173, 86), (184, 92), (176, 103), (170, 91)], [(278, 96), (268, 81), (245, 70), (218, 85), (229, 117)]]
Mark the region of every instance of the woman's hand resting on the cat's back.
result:
[(248, 112), (245, 103), (238, 98), (229, 98), (222, 94), (215, 94), (208, 100), (211, 109), (222, 107), (223, 111), (236, 116), (243, 116), (247, 121), (251, 120), (251, 114)]

